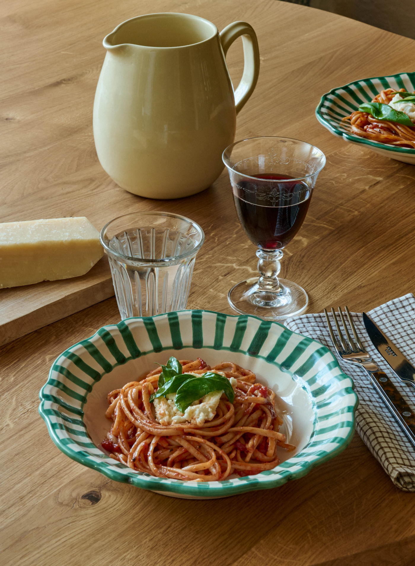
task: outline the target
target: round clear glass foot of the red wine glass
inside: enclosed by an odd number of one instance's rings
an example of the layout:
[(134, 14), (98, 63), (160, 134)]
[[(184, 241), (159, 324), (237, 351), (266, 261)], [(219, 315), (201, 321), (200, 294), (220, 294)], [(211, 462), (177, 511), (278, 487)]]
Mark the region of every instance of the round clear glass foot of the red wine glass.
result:
[(229, 305), (242, 315), (254, 315), (264, 320), (285, 320), (306, 310), (309, 297), (293, 281), (279, 279), (279, 293), (259, 292), (252, 280), (241, 281), (228, 293)]

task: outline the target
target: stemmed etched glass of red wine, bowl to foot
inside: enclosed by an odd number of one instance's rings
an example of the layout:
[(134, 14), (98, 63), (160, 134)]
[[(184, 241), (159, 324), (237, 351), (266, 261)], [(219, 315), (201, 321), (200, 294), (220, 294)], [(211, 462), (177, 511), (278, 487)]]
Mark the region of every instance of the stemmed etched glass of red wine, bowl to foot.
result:
[(320, 149), (290, 138), (250, 138), (223, 152), (238, 220), (258, 247), (259, 278), (230, 289), (229, 304), (241, 314), (267, 320), (299, 315), (309, 302), (304, 289), (279, 279), (282, 250), (300, 230), (318, 174)]

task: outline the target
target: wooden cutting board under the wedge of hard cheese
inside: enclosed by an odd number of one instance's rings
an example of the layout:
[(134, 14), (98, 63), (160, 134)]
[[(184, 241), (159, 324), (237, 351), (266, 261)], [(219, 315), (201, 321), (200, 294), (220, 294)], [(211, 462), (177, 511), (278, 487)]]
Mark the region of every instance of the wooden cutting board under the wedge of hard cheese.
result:
[(0, 289), (0, 346), (113, 294), (106, 256), (81, 277)]

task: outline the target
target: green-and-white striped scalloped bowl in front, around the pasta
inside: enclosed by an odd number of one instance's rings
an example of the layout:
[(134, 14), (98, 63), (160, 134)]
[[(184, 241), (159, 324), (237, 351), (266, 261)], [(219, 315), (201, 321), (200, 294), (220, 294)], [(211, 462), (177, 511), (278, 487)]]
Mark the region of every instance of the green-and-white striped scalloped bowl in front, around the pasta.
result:
[[(297, 446), (281, 449), (273, 470), (223, 482), (183, 482), (135, 472), (99, 448), (110, 421), (106, 395), (164, 362), (201, 357), (253, 370), (281, 398), (281, 431)], [(255, 316), (187, 310), (131, 318), (100, 328), (65, 350), (40, 391), (41, 417), (59, 449), (118, 482), (184, 498), (218, 498), (272, 488), (305, 475), (341, 452), (354, 431), (357, 396), (324, 346)]]

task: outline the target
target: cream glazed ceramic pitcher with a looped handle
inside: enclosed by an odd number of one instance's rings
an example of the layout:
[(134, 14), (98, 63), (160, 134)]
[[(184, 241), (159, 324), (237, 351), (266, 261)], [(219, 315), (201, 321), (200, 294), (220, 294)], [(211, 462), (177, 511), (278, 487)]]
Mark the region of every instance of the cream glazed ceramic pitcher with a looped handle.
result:
[[(245, 67), (234, 92), (225, 55), (239, 36)], [(198, 16), (148, 14), (118, 25), (103, 44), (93, 135), (106, 173), (153, 199), (207, 188), (223, 170), (236, 115), (258, 79), (253, 28), (234, 22), (219, 34)]]

